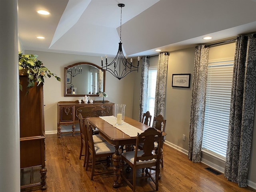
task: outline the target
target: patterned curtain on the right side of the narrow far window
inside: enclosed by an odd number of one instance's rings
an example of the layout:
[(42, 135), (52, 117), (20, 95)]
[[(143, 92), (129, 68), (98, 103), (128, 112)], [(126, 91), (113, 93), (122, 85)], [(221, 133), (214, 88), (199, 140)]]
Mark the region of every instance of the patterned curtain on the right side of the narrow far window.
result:
[(167, 52), (160, 53), (158, 57), (158, 66), (157, 66), (154, 116), (158, 116), (161, 114), (163, 117), (165, 117), (167, 66), (168, 66), (168, 53)]

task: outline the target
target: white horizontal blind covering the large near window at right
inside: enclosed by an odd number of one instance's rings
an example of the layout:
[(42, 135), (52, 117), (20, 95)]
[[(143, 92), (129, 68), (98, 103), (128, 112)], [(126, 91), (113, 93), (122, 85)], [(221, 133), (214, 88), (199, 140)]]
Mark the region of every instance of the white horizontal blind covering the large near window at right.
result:
[(208, 64), (202, 149), (226, 157), (233, 61)]

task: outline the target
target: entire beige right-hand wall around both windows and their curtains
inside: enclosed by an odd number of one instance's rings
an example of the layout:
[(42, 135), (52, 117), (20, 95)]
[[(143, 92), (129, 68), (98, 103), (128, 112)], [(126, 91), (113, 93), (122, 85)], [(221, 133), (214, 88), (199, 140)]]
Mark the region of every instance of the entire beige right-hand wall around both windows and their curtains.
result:
[[(195, 48), (188, 48), (170, 52), (168, 58), (168, 76), (166, 86), (166, 144), (188, 154), (188, 139), (190, 129), (190, 106), (192, 95), (192, 80), (194, 70)], [(209, 60), (234, 57), (234, 43), (210, 48)], [(158, 57), (150, 58), (150, 66), (157, 66)], [(190, 73), (190, 88), (172, 87), (172, 74)], [(136, 82), (139, 82), (136, 76)], [(138, 93), (138, 94), (137, 94)], [(133, 118), (138, 119), (140, 84), (134, 83), (134, 111)], [(254, 127), (256, 117), (254, 117)], [(254, 128), (255, 129), (255, 128)], [(182, 140), (182, 135), (186, 140)], [(256, 131), (253, 132), (253, 140), (256, 138)], [(170, 156), (171, 158), (171, 156)], [(224, 170), (224, 163), (213, 156), (202, 154), (204, 162), (217, 170)], [(252, 142), (252, 156), (248, 174), (248, 185), (256, 188), (256, 142)]]

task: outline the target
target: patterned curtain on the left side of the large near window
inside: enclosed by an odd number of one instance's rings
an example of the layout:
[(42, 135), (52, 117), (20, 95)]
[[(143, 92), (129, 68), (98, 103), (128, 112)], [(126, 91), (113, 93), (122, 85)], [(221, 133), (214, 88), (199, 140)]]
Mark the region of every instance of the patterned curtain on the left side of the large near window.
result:
[(194, 163), (201, 161), (208, 54), (209, 47), (205, 47), (204, 45), (196, 46), (188, 143), (188, 158)]

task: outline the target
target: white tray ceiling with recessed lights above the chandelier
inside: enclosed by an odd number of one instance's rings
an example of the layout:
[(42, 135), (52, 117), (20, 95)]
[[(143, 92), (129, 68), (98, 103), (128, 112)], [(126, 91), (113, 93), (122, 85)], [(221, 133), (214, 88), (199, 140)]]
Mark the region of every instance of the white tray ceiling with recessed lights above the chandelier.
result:
[[(256, 0), (18, 0), (20, 42), (25, 50), (115, 56), (118, 3), (125, 4), (122, 43), (130, 57), (256, 32)], [(50, 15), (39, 15), (41, 9)]]

